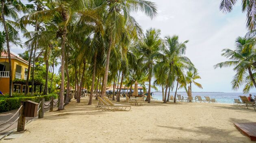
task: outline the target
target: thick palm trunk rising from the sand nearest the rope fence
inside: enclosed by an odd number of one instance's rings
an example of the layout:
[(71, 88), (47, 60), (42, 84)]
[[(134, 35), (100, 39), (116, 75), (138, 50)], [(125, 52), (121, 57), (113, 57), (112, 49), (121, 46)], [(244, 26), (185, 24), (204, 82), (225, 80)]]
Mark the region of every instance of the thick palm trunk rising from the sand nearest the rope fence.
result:
[(64, 75), (64, 69), (65, 69), (65, 40), (66, 40), (66, 34), (67, 34), (67, 26), (64, 26), (63, 29), (63, 38), (61, 43), (61, 94), (60, 94), (60, 101), (59, 101), (59, 108), (58, 110), (64, 109), (64, 83), (65, 83), (65, 75)]

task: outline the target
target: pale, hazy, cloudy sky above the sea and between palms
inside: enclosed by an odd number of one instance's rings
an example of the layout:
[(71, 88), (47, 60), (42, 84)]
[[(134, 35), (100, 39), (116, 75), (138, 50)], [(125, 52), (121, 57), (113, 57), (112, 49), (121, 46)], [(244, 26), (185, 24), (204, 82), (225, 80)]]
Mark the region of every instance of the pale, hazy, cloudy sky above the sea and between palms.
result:
[[(235, 39), (247, 33), (245, 13), (238, 2), (231, 13), (219, 11), (220, 0), (151, 0), (158, 15), (153, 19), (143, 13), (133, 13), (144, 32), (150, 27), (161, 29), (161, 36), (178, 35), (187, 43), (186, 56), (191, 59), (202, 79), (197, 80), (203, 89), (192, 85), (193, 92), (242, 92), (232, 90), (232, 68), (214, 69), (213, 65), (226, 61), (221, 57), (223, 48), (234, 49)], [(29, 29), (33, 29), (28, 27)], [(25, 42), (25, 39), (23, 39)], [(11, 51), (22, 53), (24, 49), (13, 46)], [(161, 88), (159, 88), (161, 90)], [(183, 90), (180, 90), (183, 91)], [(252, 90), (256, 92), (256, 90)]]

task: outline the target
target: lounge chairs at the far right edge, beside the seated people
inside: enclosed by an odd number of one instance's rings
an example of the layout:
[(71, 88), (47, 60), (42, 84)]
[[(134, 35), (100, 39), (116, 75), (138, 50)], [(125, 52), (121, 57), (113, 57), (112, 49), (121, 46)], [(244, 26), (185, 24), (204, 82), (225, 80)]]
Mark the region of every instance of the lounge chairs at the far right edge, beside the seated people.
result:
[(254, 108), (254, 110), (256, 110), (256, 103), (255, 103), (255, 99), (256, 96), (254, 96), (254, 102), (249, 101), (249, 99), (246, 96), (239, 96), (239, 98), (241, 99), (241, 101), (239, 99), (234, 99), (234, 105), (240, 105), (240, 106), (244, 106), (245, 108), (247, 107), (247, 109), (249, 109), (249, 107)]

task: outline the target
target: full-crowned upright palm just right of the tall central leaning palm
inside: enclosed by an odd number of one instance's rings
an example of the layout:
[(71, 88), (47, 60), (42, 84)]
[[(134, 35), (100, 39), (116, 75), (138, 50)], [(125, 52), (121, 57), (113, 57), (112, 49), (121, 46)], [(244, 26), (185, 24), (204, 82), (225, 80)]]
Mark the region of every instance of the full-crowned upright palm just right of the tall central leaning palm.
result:
[(145, 69), (148, 69), (148, 103), (150, 103), (150, 93), (151, 93), (151, 78), (152, 78), (152, 69), (154, 67), (154, 55), (158, 55), (162, 40), (160, 38), (159, 29), (148, 29), (146, 34), (139, 44), (139, 52), (142, 53), (142, 57), (145, 60)]

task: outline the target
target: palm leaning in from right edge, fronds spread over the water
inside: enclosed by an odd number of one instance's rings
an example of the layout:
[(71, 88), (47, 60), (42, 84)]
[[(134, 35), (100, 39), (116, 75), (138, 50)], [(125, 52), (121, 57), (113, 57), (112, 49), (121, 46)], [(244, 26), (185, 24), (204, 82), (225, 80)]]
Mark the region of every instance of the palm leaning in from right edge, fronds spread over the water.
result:
[(229, 61), (214, 65), (214, 68), (234, 66), (233, 70), (236, 71), (236, 74), (231, 82), (232, 89), (234, 90), (238, 90), (246, 82), (247, 76), (249, 76), (251, 81), (249, 83), (252, 83), (256, 88), (254, 74), (252, 73), (254, 71), (252, 63), (256, 61), (256, 49), (253, 42), (251, 42), (252, 40), (254, 39), (238, 37), (236, 39), (236, 47), (234, 50), (228, 48), (222, 50), (223, 53), (221, 55), (228, 58)]

